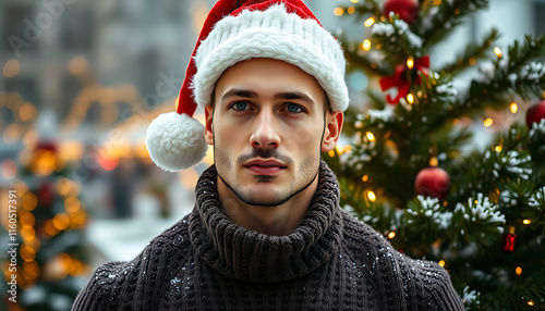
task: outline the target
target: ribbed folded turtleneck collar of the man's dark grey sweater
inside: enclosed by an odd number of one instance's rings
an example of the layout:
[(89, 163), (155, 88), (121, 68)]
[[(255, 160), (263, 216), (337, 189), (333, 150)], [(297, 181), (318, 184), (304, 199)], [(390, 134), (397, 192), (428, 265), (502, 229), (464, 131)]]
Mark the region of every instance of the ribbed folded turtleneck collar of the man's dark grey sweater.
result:
[(196, 253), (218, 272), (249, 282), (286, 281), (319, 268), (337, 252), (342, 229), (339, 185), (325, 162), (320, 162), (318, 187), (306, 216), (287, 236), (234, 224), (220, 208), (216, 184), (213, 165), (196, 186), (190, 236)]

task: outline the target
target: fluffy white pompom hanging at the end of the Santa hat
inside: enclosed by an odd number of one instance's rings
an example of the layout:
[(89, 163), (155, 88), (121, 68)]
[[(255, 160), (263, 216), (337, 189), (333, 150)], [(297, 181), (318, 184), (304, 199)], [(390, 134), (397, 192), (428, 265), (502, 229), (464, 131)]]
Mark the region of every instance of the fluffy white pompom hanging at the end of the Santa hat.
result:
[(146, 147), (157, 166), (178, 172), (203, 160), (208, 145), (204, 126), (195, 119), (178, 112), (157, 116), (146, 132)]

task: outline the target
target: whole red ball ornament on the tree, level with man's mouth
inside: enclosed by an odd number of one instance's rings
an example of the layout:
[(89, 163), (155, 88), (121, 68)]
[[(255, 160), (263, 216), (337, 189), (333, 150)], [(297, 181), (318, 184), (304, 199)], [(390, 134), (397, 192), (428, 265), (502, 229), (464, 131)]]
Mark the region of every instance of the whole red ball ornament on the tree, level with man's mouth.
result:
[(414, 189), (421, 196), (443, 200), (450, 190), (450, 177), (441, 167), (425, 167), (416, 175)]

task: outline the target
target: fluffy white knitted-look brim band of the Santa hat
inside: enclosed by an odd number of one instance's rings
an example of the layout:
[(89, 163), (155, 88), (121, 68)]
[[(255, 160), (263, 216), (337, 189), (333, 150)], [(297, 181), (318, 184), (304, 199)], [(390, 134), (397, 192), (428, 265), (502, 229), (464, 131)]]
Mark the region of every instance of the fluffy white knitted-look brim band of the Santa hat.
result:
[(197, 104), (210, 104), (221, 74), (252, 58), (276, 59), (300, 67), (316, 78), (332, 111), (348, 108), (346, 60), (339, 42), (315, 20), (288, 13), (283, 4), (265, 11), (245, 10), (216, 24), (195, 55), (193, 88)]

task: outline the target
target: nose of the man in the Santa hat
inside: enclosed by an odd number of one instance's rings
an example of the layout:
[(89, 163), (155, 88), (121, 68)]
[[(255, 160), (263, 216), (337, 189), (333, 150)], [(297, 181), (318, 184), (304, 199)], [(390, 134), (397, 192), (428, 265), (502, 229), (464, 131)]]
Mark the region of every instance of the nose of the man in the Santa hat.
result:
[(250, 137), (250, 144), (254, 148), (278, 148), (280, 136), (275, 125), (275, 116), (271, 111), (261, 111), (255, 120), (254, 130)]

